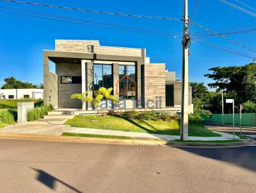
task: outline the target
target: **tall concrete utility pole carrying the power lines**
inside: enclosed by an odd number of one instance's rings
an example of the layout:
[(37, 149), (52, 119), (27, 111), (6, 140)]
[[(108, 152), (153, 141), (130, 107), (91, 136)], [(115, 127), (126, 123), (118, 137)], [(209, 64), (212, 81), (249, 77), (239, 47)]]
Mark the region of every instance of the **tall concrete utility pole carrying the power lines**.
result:
[(188, 33), (188, 0), (184, 0), (184, 15), (183, 15), (183, 57), (182, 57), (182, 104), (181, 104), (181, 118), (180, 118), (180, 139), (188, 140), (188, 48), (190, 45), (190, 38)]

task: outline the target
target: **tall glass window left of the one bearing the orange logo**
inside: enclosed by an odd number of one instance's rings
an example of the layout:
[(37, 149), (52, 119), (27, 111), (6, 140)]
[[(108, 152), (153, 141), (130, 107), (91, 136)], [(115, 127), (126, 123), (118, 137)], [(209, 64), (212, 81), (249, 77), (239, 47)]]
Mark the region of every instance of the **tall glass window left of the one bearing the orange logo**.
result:
[(93, 65), (93, 89), (113, 88), (112, 65)]

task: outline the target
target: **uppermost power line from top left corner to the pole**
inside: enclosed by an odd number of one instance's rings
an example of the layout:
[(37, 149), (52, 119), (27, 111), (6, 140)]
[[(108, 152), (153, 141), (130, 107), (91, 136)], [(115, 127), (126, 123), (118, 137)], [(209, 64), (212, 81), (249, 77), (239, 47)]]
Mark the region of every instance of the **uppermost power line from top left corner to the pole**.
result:
[(6, 1), (6, 2), (10, 2), (10, 3), (20, 3), (20, 4), (31, 4), (31, 5), (36, 5), (36, 6), (45, 6), (48, 8), (60, 8), (60, 9), (64, 9), (64, 10), (73, 10), (73, 11), (90, 12), (90, 13), (101, 13), (101, 14), (107, 14), (107, 15), (119, 15), (119, 16), (125, 16), (125, 17), (140, 17), (140, 18), (144, 18), (144, 19), (182, 20), (182, 19), (176, 19), (176, 18), (170, 18), (170, 17), (156, 17), (156, 16), (147, 16), (147, 15), (134, 15), (134, 14), (127, 14), (127, 13), (84, 10), (81, 8), (70, 8), (70, 7), (66, 7), (66, 6), (56, 6), (56, 5), (42, 4), (42, 3), (31, 3), (31, 2), (26, 2), (26, 1), (15, 1), (15, 0), (0, 0), (0, 1)]

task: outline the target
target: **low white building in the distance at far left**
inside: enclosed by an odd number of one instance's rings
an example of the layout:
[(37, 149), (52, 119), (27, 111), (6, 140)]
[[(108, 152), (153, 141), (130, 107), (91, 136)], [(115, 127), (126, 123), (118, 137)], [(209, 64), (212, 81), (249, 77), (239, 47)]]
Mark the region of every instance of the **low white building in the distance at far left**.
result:
[(44, 89), (0, 89), (0, 99), (44, 98)]

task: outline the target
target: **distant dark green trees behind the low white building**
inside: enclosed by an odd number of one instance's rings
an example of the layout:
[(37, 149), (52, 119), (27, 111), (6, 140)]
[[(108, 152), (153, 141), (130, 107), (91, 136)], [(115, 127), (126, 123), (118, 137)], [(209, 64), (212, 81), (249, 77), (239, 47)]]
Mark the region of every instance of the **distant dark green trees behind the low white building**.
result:
[(38, 88), (35, 84), (19, 81), (14, 77), (8, 77), (4, 79), (4, 82), (2, 89)]

